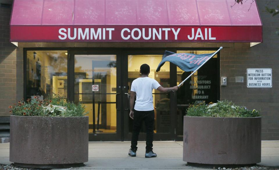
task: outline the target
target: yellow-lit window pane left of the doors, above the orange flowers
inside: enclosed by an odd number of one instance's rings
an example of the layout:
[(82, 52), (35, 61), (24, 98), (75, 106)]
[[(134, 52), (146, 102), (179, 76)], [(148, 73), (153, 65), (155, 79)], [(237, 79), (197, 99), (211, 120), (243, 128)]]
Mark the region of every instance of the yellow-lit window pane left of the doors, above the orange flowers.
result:
[(26, 97), (67, 97), (67, 51), (27, 51)]

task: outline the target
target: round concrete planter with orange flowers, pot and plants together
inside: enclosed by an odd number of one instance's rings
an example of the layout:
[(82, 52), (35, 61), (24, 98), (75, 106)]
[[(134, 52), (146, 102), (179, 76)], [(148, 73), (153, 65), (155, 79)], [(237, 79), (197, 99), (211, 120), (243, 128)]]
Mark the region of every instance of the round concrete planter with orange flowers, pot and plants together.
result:
[(33, 96), (9, 108), (10, 161), (15, 166), (76, 167), (88, 161), (89, 117), (82, 103), (50, 94), (44, 100)]

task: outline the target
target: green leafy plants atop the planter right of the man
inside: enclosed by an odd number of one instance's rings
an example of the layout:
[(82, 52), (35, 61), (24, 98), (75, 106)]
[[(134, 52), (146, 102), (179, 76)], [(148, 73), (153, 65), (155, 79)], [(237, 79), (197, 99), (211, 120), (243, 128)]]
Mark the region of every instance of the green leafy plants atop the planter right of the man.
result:
[(246, 107), (236, 106), (231, 101), (223, 100), (217, 103), (210, 102), (209, 104), (200, 103), (191, 105), (187, 109), (187, 116), (202, 116), (202, 117), (258, 117), (259, 111), (247, 109)]

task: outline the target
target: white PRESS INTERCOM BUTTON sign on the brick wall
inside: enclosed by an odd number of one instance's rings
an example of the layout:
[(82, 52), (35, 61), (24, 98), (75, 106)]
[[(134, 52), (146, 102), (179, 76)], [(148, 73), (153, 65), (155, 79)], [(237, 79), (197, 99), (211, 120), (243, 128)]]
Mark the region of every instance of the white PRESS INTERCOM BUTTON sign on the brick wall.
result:
[(247, 87), (272, 87), (272, 69), (247, 68)]

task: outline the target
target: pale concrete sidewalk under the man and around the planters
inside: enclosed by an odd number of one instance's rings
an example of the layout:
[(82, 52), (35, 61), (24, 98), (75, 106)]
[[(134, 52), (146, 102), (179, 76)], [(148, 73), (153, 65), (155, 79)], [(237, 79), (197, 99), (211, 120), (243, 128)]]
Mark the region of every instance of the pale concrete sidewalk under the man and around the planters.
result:
[[(89, 161), (74, 169), (202, 169), (186, 166), (182, 141), (154, 141), (157, 158), (144, 158), (145, 142), (138, 143), (137, 157), (128, 156), (130, 142), (89, 142)], [(0, 144), (0, 164), (9, 161), (9, 143)], [(279, 166), (279, 141), (262, 141), (262, 162)]]

